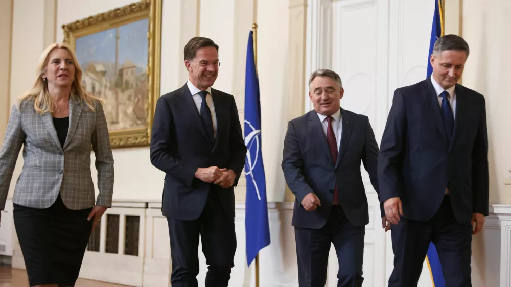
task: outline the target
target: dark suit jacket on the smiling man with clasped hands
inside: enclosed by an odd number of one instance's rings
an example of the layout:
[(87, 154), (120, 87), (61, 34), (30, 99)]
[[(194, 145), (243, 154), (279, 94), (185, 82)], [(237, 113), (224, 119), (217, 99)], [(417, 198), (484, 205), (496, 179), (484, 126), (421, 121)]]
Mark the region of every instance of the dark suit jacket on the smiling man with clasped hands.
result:
[(164, 216), (197, 219), (210, 192), (218, 193), (227, 216), (234, 217), (234, 188), (195, 178), (198, 168), (218, 166), (236, 173), (238, 184), (246, 146), (234, 97), (211, 89), (217, 117), (215, 142), (209, 142), (188, 86), (162, 95), (156, 103), (151, 134), (151, 163), (166, 173), (162, 197)]

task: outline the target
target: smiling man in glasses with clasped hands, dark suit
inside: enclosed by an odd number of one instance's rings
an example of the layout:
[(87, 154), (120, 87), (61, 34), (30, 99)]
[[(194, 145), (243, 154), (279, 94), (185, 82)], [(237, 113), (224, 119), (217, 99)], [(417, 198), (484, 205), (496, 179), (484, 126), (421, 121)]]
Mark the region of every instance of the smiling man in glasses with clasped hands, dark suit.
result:
[(156, 103), (151, 163), (166, 173), (162, 212), (169, 223), (173, 287), (197, 286), (199, 234), (206, 287), (227, 286), (234, 266), (234, 188), (245, 147), (234, 97), (211, 88), (218, 45), (195, 37), (184, 47), (189, 80)]

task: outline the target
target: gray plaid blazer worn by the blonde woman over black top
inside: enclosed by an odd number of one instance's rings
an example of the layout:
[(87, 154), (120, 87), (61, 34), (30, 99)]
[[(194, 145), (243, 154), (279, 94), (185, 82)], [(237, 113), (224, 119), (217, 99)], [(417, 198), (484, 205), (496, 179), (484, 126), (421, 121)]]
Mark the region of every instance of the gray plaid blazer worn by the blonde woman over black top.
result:
[[(90, 208), (95, 203), (111, 207), (113, 155), (103, 107), (95, 104), (95, 111), (90, 111), (78, 96), (71, 98), (69, 130), (63, 148), (50, 113), (38, 114), (33, 100), (22, 103), (19, 110), (16, 105), (12, 107), (0, 150), (0, 210), (5, 207), (21, 146), (24, 163), (14, 189), (14, 203), (47, 208), (60, 192), (69, 209)], [(98, 170), (97, 200), (90, 173), (91, 148)]]

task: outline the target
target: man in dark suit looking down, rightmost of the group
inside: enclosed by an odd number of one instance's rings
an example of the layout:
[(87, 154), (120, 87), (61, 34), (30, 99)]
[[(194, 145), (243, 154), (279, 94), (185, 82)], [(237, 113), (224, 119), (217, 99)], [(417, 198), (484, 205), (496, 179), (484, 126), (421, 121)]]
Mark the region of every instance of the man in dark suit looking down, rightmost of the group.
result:
[(484, 97), (457, 84), (468, 56), (463, 38), (443, 36), (432, 76), (394, 92), (378, 158), (392, 223), (390, 287), (417, 285), (430, 242), (446, 286), (471, 286), (472, 234), (488, 215), (489, 173)]

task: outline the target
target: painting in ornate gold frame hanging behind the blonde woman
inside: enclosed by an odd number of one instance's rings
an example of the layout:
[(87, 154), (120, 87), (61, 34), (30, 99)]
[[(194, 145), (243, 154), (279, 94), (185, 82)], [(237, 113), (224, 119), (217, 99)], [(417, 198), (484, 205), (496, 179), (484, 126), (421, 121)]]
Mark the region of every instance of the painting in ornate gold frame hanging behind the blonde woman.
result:
[(62, 25), (84, 89), (105, 100), (112, 148), (149, 145), (160, 88), (161, 0)]

